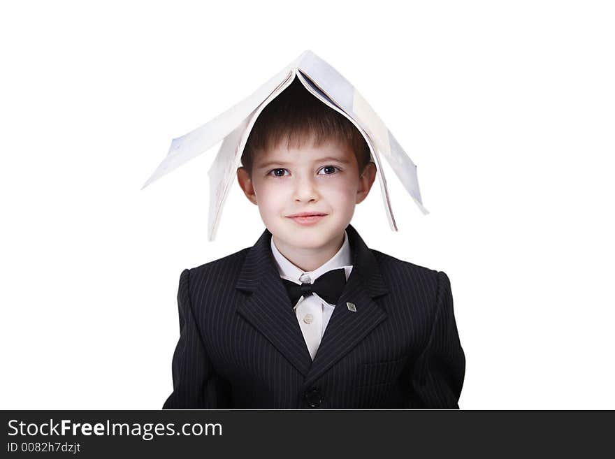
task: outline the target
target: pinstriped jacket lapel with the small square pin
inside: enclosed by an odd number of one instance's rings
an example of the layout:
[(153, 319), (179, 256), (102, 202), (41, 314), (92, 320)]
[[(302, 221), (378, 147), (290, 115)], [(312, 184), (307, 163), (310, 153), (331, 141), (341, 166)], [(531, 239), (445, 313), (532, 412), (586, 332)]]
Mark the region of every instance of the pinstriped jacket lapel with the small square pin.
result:
[[(386, 294), (386, 285), (371, 250), (352, 227), (347, 226), (352, 249), (352, 272), (322, 337), (305, 385), (321, 376), (340, 358), (361, 342), (380, 322), (386, 312), (372, 298)], [(355, 311), (347, 306), (353, 303)]]

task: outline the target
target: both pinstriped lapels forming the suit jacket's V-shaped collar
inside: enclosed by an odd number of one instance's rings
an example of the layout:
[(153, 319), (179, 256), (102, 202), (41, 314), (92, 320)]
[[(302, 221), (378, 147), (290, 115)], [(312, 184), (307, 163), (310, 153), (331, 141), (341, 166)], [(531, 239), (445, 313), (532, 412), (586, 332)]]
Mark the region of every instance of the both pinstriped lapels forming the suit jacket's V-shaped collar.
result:
[[(277, 271), (270, 247), (271, 233), (267, 229), (248, 250), (236, 284), (237, 289), (249, 293), (238, 306), (238, 313), (305, 376), (306, 386), (386, 319), (384, 309), (373, 300), (387, 292), (375, 256), (352, 225), (346, 231), (352, 252), (352, 272), (313, 362)], [(347, 303), (353, 303), (356, 312)]]

